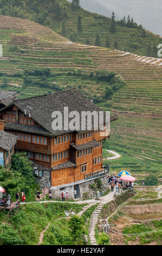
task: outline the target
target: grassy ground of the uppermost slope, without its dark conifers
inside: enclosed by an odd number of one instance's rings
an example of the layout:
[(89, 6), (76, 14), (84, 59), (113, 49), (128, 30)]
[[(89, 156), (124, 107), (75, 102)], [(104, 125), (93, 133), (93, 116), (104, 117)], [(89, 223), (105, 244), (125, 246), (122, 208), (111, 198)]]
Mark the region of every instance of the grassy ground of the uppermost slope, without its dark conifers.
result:
[[(10, 3), (13, 1), (10, 0)], [(56, 10), (56, 4), (52, 9), (52, 1), (40, 1), (25, 0), (23, 3), (18, 3), (16, 7), (9, 5), (8, 3), (1, 4), (3, 15), (11, 15), (21, 18), (27, 18), (36, 22), (41, 22), (42, 25), (51, 27), (55, 32), (61, 32), (62, 22), (65, 24), (64, 35), (67, 38), (71, 38), (73, 34), (74, 41), (85, 44), (87, 38), (90, 40), (90, 44), (95, 44), (96, 34), (100, 35), (101, 46), (105, 47), (106, 38), (109, 38), (109, 46), (114, 47), (115, 40), (118, 41), (119, 50), (134, 52), (140, 55), (147, 54), (148, 44), (155, 42), (155, 45), (160, 44), (161, 38), (155, 36), (151, 32), (146, 32), (139, 26), (135, 28), (129, 28), (127, 26), (121, 26), (119, 22), (116, 22), (116, 32), (109, 32), (111, 19), (102, 15), (93, 14), (82, 8), (73, 9), (72, 4), (66, 0), (55, 1), (59, 4), (59, 11)], [(36, 3), (36, 4), (35, 4)], [(36, 6), (35, 6), (36, 5)], [(19, 8), (19, 9), (17, 9)], [(43, 11), (47, 11), (47, 18), (40, 19)], [(57, 14), (59, 17), (57, 17)], [(45, 15), (46, 16), (46, 15)], [(82, 32), (77, 32), (77, 19), (81, 16), (82, 19)], [(48, 19), (48, 20), (47, 20)], [(157, 57), (157, 56), (154, 56)]]

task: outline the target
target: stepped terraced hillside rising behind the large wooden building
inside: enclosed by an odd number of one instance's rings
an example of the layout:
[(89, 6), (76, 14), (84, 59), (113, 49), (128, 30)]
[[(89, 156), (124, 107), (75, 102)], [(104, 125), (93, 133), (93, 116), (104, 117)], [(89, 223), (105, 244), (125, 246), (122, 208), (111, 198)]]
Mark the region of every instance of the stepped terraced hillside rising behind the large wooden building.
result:
[[(122, 155), (111, 162), (112, 170), (125, 168), (139, 179), (160, 175), (161, 59), (77, 44), (38, 23), (9, 16), (0, 16), (0, 33), (3, 89), (27, 97), (77, 87), (103, 109), (118, 113), (111, 139), (105, 143), (105, 148)], [(38, 71), (46, 68), (50, 75), (40, 73), (40, 79)], [(116, 72), (126, 82), (111, 100), (105, 98), (105, 90), (112, 84), (99, 79), (104, 70)], [(116, 79), (114, 84), (119, 82)]]

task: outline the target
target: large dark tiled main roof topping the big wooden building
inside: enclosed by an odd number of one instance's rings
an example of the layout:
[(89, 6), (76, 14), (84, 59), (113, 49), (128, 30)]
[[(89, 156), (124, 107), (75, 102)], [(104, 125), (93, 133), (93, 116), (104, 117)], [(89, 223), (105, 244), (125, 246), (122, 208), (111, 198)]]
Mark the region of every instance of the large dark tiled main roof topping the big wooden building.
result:
[[(44, 129), (46, 129), (54, 136), (59, 136), (72, 132), (71, 130), (54, 131), (52, 129), (51, 125), (54, 121), (54, 118), (52, 118), (51, 115), (54, 111), (60, 111), (63, 116), (64, 107), (68, 107), (68, 112), (77, 111), (80, 113), (80, 117), (82, 111), (96, 111), (98, 113), (102, 111), (101, 108), (87, 100), (76, 89), (64, 90), (58, 93), (31, 97), (29, 99), (15, 100), (14, 105), (21, 109), (22, 112), (26, 110), (28, 115), (30, 113), (31, 118), (33, 118), (38, 124), (40, 124), (42, 127), (44, 127)], [(69, 123), (70, 120), (72, 120), (72, 118), (69, 118), (67, 122)], [(112, 120), (115, 120), (115, 118), (111, 117), (111, 121)], [(82, 129), (80, 124), (80, 129), (78, 132), (80, 132), (81, 130)]]

